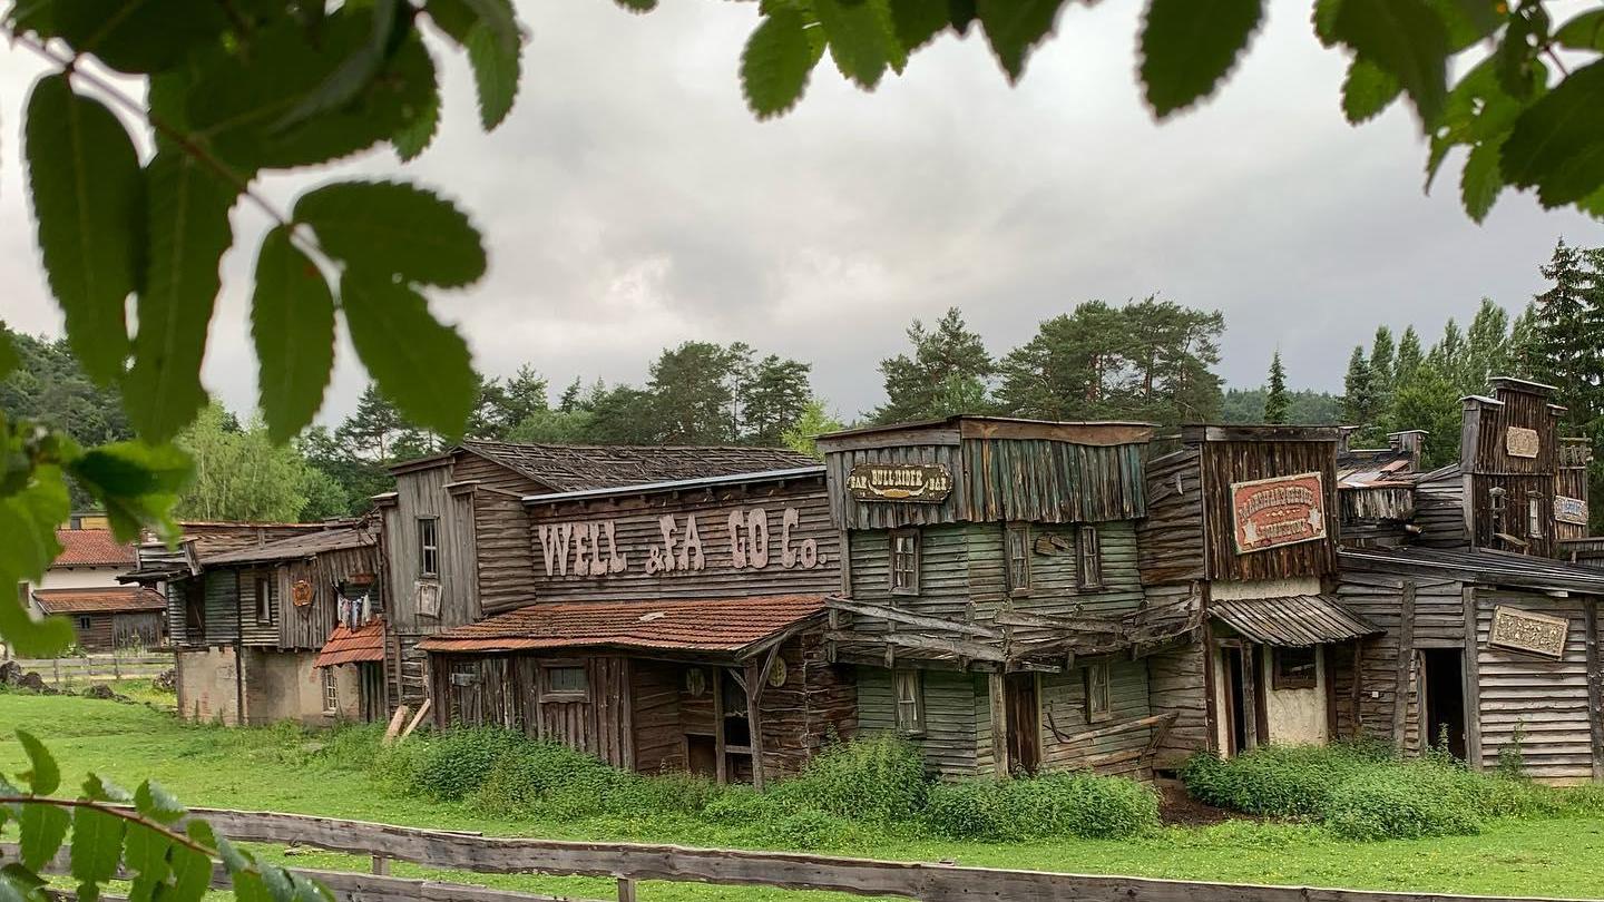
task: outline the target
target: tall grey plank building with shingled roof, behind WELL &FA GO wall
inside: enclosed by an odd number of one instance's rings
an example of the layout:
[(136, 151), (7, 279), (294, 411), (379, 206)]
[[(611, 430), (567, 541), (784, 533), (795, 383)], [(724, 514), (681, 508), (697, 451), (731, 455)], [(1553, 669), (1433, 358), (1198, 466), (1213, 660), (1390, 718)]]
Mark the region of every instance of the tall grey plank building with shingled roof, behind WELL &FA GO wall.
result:
[(539, 586), (531, 557), (529, 494), (616, 488), (807, 465), (768, 448), (602, 448), (467, 440), (444, 454), (391, 467), (396, 490), (374, 501), (391, 586), (385, 655), (390, 698), (428, 695), (435, 632), (528, 605)]

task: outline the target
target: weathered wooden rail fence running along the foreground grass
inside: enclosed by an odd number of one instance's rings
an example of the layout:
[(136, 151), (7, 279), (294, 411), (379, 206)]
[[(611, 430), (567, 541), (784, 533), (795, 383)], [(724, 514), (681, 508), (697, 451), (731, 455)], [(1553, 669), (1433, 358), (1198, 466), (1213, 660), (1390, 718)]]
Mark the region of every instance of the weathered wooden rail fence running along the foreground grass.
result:
[[(1517, 902), (1509, 896), (1439, 896), (1306, 886), (1189, 883), (1136, 876), (1070, 875), (881, 862), (794, 852), (690, 849), (635, 843), (494, 839), (478, 833), (422, 830), (298, 814), (196, 809), (218, 833), (244, 843), (298, 844), (371, 855), (372, 872), (300, 872), (322, 880), (337, 899), (361, 902), (451, 900), (534, 902), (552, 896), (390, 876), (390, 862), (475, 873), (600, 876), (618, 881), (618, 899), (634, 902), (637, 881), (685, 881), (780, 889), (823, 889), (924, 902)], [(66, 852), (56, 867), (67, 863)], [(218, 872), (217, 881), (226, 881)], [(568, 897), (563, 897), (568, 899)], [(1530, 902), (1530, 900), (1519, 900)]]

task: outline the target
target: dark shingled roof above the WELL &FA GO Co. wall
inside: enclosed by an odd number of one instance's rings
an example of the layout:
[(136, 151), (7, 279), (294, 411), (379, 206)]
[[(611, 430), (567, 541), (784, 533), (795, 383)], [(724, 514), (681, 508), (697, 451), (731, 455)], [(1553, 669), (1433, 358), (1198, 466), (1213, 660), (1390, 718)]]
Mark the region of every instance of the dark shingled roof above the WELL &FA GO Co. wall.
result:
[(465, 440), (460, 446), (553, 491), (619, 488), (733, 473), (812, 467), (818, 461), (784, 448), (515, 445)]

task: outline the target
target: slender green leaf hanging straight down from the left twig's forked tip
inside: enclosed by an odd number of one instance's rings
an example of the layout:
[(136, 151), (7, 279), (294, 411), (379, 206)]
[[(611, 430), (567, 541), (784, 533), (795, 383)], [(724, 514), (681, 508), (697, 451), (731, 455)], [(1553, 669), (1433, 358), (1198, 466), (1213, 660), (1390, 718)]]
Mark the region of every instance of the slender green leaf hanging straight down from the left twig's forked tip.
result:
[(334, 292), (284, 226), (269, 231), (257, 254), (250, 337), (268, 438), (289, 441), (322, 406), (334, 372)]

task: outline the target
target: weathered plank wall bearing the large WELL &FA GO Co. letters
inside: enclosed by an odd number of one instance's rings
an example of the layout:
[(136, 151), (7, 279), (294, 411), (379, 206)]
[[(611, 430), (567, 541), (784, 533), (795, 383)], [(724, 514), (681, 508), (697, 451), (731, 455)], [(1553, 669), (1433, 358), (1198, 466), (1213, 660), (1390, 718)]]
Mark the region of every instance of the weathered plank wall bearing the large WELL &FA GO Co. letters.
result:
[[(688, 549), (693, 520), (699, 555)], [(823, 477), (533, 502), (529, 522), (525, 554), (533, 562), (534, 595), (499, 599), (504, 607), (536, 599), (739, 599), (840, 591), (840, 534), (829, 522)], [(592, 549), (592, 541), (600, 547)], [(804, 554), (804, 546), (812, 552)]]

